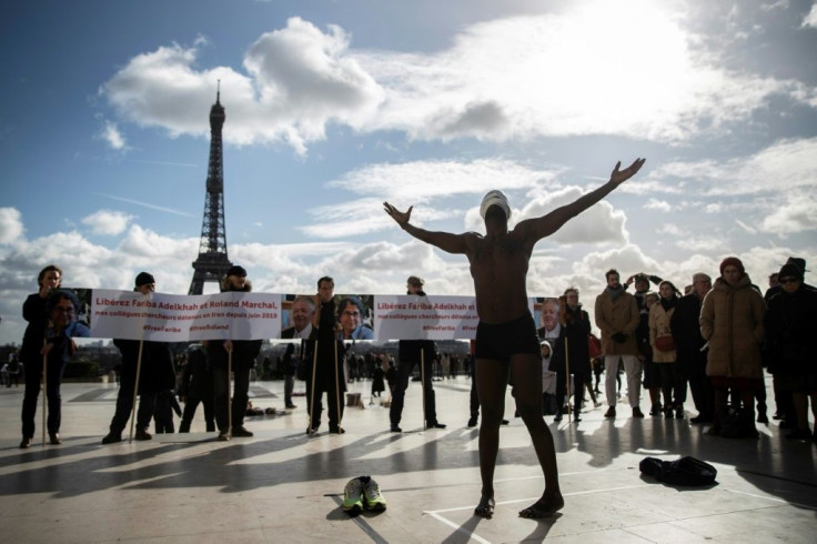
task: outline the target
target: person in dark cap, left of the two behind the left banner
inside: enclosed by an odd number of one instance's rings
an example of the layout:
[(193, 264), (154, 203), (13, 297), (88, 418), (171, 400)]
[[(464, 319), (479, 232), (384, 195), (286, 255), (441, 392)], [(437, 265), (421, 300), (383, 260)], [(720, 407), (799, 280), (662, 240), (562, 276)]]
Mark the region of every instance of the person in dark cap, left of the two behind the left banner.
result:
[[(157, 289), (157, 282), (149, 272), (137, 274), (133, 291), (150, 296)], [(173, 355), (164, 342), (144, 341), (142, 343), (142, 362), (139, 364), (139, 340), (114, 339), (113, 345), (122, 354), (122, 369), (119, 379), (117, 407), (111, 419), (108, 434), (102, 444), (115, 444), (122, 441), (122, 431), (133, 411), (134, 390), (137, 390), (137, 366), (139, 366), (139, 410), (137, 410), (135, 440), (151, 440), (148, 432), (150, 420), (155, 411), (157, 396), (160, 391), (175, 387), (175, 370)]]

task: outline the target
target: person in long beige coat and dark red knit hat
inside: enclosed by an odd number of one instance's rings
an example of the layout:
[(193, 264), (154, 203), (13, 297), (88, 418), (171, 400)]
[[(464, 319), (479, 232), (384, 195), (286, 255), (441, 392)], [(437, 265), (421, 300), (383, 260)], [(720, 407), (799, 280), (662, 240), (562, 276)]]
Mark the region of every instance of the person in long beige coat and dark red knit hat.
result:
[(715, 423), (709, 434), (719, 434), (729, 390), (740, 396), (743, 423), (757, 435), (754, 391), (763, 384), (760, 343), (766, 303), (736, 256), (720, 263), (720, 278), (704, 299), (700, 334), (709, 344), (706, 374), (715, 387)]

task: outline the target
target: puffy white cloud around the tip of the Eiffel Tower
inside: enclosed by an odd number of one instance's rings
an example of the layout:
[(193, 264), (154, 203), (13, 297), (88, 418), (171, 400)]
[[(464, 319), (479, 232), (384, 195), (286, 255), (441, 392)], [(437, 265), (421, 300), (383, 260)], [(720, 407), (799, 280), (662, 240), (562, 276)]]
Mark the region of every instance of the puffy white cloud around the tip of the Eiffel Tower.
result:
[(326, 123), (351, 127), (371, 117), (382, 91), (347, 54), (349, 37), (336, 26), (322, 32), (297, 17), (261, 36), (244, 58), (248, 74), (216, 67), (198, 71), (196, 42), (161, 47), (128, 62), (101, 88), (119, 114), (171, 135), (209, 132), (208, 111), (221, 80), (224, 139), (236, 144), (285, 142), (305, 152), (325, 137)]

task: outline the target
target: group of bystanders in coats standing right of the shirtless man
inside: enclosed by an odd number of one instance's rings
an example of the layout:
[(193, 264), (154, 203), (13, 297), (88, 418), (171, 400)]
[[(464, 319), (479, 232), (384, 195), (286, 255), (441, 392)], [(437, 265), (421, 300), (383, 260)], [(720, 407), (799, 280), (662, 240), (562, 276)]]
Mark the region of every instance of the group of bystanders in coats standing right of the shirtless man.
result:
[[(574, 420), (581, 421), (585, 390), (597, 405), (592, 375), (603, 369), (608, 406), (604, 417), (617, 415), (624, 374), (633, 417), (645, 416), (641, 393), (646, 390), (649, 415), (684, 419), (689, 391), (697, 411), (690, 423), (708, 425), (710, 435), (757, 436), (755, 423), (769, 422), (765, 369), (775, 392), (773, 417), (791, 430), (787, 437), (813, 439), (807, 409), (810, 399), (817, 417), (817, 371), (807, 340), (817, 326), (817, 294), (804, 282), (805, 271), (805, 260), (790, 258), (769, 275), (763, 295), (735, 256), (724, 259), (714, 283), (704, 272), (694, 274), (684, 294), (670, 281), (644, 273), (622, 284), (619, 273), (609, 270), (607, 288), (595, 300), (603, 351), (596, 359), (587, 356), (588, 342), (583, 341), (591, 326), (578, 291), (567, 289), (543, 304), (538, 334), (544, 413), (561, 421), (571, 404), (565, 394), (571, 387)], [(555, 407), (548, 409), (553, 402)]]

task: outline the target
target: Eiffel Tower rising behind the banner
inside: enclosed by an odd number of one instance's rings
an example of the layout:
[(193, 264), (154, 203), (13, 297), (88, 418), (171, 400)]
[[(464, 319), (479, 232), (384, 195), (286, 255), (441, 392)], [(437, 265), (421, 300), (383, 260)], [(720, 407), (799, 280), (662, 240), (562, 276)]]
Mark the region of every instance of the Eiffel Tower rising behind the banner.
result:
[(224, 107), (219, 101), (221, 83), (215, 92), (215, 103), (210, 109), (210, 163), (208, 164), (204, 221), (201, 225), (199, 258), (193, 262), (193, 281), (188, 294), (202, 294), (204, 282), (218, 282), (232, 263), (226, 256), (224, 229), (224, 165), (221, 155), (221, 128), (224, 125)]

